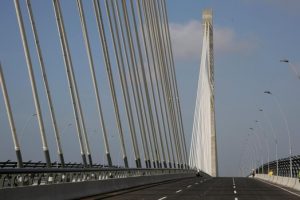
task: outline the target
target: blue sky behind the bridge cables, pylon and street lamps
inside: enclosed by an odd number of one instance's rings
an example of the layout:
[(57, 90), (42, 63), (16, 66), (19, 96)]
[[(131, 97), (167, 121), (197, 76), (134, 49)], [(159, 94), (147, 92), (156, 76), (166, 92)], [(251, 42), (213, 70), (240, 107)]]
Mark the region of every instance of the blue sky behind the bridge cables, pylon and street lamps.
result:
[[(43, 1), (43, 3), (32, 1), (32, 4), (49, 84), (54, 95), (59, 128), (63, 130), (68, 123), (74, 124), (74, 121), (53, 7), (51, 1)], [(95, 111), (95, 97), (76, 3), (75, 1), (71, 3), (62, 1), (61, 4), (80, 97), (85, 118), (88, 119), (86, 120), (87, 129), (93, 157), (95, 161), (101, 161), (103, 160), (102, 136)], [(268, 136), (271, 159), (274, 159), (274, 142), (271, 139), (270, 127), (262, 113), (258, 112), (258, 107), (264, 108), (276, 134), (278, 134), (279, 157), (288, 155), (288, 141), (282, 116), (272, 101), (272, 97), (263, 94), (264, 90), (271, 90), (280, 101), (291, 130), (293, 152), (299, 154), (300, 146), (297, 144), (300, 141), (298, 122), (300, 118), (300, 80), (297, 79), (287, 64), (280, 63), (279, 60), (288, 58), (300, 70), (300, 13), (298, 12), (300, 2), (297, 0), (229, 0), (225, 3), (225, 1), (217, 0), (168, 0), (167, 4), (184, 128), (188, 143), (190, 143), (192, 132), (201, 55), (201, 12), (205, 8), (212, 8), (215, 31), (215, 95), (220, 175), (240, 175), (240, 160), (242, 159), (243, 163), (246, 164), (246, 161), (250, 159), (249, 153), (244, 154), (244, 157), (241, 158), (245, 149), (243, 144), (249, 133), (249, 127), (257, 127), (254, 122), (256, 119), (261, 122), (261, 128)], [(29, 43), (33, 47), (28, 15), (23, 1), (21, 1), (21, 7)], [(120, 149), (117, 129), (114, 123), (106, 72), (102, 63), (98, 33), (95, 29), (92, 3), (85, 1), (84, 7), (90, 39), (93, 41), (94, 60), (98, 66), (96, 67), (97, 78), (103, 107), (105, 107), (107, 128), (112, 135), (109, 140), (113, 146), (112, 153), (115, 155), (113, 159), (118, 162)], [(104, 7), (102, 8), (104, 10)], [(6, 75), (17, 130), (21, 134), (26, 121), (34, 113), (34, 107), (13, 1), (2, 0), (0, 2), (0, 24), (0, 60)], [(31, 54), (39, 85), (51, 156), (55, 160), (53, 131), (34, 48), (31, 48)], [(115, 79), (118, 80), (116, 71)], [(118, 82), (117, 84), (117, 88), (120, 88)], [(118, 92), (120, 93), (119, 89)], [(122, 104), (121, 95), (118, 97)], [(121, 112), (122, 116), (125, 117), (124, 109)], [(12, 159), (14, 152), (2, 95), (0, 98), (0, 127), (0, 160)], [(258, 128), (256, 129), (261, 132)], [(74, 125), (66, 128), (63, 132), (62, 141), (65, 147), (66, 160), (80, 161), (75, 133)], [(20, 142), (23, 147), (24, 160), (43, 159), (36, 119), (28, 124), (21, 135), (23, 135), (20, 137)], [(129, 141), (129, 137), (127, 140)], [(250, 141), (255, 142), (253, 137)], [(128, 151), (132, 155), (131, 150)]]

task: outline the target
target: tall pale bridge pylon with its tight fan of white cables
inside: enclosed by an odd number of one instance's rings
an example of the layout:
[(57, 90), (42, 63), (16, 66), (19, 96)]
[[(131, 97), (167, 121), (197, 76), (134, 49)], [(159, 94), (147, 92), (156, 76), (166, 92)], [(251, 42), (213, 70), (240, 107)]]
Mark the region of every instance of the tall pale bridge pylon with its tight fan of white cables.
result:
[(212, 17), (211, 9), (203, 11), (202, 55), (190, 150), (190, 165), (211, 176), (218, 176)]

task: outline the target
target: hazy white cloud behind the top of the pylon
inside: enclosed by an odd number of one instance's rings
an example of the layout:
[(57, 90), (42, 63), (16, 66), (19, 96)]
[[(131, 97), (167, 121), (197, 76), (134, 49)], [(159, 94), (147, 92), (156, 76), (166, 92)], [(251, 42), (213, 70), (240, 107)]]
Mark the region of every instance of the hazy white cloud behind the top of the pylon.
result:
[[(200, 59), (202, 48), (202, 23), (192, 20), (184, 24), (170, 24), (174, 56), (177, 59)], [(214, 27), (214, 50), (216, 54), (249, 53), (256, 47), (252, 37), (238, 38), (228, 27)]]

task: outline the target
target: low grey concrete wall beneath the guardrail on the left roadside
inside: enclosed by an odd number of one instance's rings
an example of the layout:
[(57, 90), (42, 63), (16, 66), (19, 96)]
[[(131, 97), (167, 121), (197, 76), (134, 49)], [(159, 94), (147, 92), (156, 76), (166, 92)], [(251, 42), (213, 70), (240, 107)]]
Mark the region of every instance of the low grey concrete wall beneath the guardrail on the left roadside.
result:
[(79, 183), (63, 183), (41, 186), (27, 186), (0, 189), (0, 199), (78, 199), (141, 185), (159, 183), (168, 180), (194, 177), (195, 174), (168, 174), (157, 176), (141, 176), (101, 181), (85, 181)]

